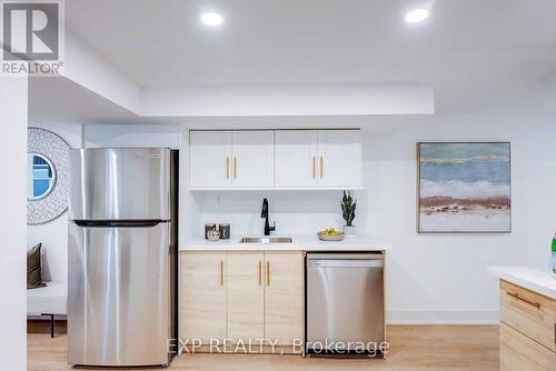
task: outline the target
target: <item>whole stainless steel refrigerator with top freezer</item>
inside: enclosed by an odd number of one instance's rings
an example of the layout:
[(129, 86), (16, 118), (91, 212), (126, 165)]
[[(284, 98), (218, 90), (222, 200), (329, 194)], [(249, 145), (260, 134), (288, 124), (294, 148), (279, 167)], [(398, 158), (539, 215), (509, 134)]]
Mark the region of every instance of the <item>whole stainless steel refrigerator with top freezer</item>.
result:
[(178, 153), (70, 152), (68, 363), (168, 365), (178, 338)]

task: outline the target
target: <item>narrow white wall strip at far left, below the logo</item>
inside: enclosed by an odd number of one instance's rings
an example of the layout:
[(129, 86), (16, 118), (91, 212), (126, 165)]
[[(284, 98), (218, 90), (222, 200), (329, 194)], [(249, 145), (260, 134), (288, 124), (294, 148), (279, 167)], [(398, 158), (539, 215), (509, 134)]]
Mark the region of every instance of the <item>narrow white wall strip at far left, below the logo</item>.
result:
[(23, 371), (26, 351), (27, 78), (0, 78), (0, 370)]

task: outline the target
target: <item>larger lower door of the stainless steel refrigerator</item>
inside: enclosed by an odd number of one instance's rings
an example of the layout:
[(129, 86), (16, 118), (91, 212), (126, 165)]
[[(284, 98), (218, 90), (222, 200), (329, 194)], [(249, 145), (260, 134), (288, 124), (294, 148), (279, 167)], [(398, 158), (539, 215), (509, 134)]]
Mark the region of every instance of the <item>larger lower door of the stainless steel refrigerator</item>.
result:
[(69, 224), (68, 363), (169, 363), (169, 223)]

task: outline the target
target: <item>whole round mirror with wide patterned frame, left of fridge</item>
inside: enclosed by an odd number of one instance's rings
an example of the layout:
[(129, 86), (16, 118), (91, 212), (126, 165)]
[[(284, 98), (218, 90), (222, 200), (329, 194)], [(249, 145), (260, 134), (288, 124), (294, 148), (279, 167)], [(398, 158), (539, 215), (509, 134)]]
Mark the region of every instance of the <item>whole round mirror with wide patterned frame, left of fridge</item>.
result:
[(68, 143), (51, 131), (27, 131), (27, 223), (47, 223), (68, 209)]

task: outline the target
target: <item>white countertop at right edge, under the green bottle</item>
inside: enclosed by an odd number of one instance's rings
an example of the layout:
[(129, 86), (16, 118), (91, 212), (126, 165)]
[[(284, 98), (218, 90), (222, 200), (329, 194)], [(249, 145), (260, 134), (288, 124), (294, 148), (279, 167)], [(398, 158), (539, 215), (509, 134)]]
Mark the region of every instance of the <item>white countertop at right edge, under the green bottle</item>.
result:
[(552, 299), (556, 299), (556, 279), (550, 272), (528, 267), (488, 267), (488, 273)]

